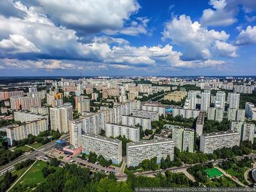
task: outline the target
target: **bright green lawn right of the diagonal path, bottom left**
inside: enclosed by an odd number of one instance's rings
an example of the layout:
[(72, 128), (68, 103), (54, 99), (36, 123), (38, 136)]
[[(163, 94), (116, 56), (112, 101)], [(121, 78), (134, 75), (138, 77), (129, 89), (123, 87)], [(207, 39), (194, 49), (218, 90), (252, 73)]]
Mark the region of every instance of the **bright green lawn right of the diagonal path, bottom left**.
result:
[(12, 188), (12, 191), (22, 191), (21, 189), (31, 189), (37, 184), (44, 181), (42, 169), (47, 166), (44, 161), (36, 161), (31, 169), (19, 180), (19, 182)]

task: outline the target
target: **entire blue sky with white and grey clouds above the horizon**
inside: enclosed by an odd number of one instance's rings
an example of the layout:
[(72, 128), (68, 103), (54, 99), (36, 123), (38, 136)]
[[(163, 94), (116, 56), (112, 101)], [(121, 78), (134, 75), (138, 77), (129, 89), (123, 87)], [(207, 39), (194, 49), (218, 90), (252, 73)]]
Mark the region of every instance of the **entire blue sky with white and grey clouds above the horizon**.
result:
[(1, 0), (0, 76), (254, 76), (255, 0)]

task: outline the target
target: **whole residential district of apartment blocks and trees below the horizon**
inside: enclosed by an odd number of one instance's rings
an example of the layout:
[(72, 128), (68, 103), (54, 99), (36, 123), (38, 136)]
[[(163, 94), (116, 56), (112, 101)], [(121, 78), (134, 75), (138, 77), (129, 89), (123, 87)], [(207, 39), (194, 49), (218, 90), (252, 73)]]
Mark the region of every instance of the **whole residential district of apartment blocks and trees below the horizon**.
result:
[(255, 92), (253, 77), (1, 81), (0, 191), (254, 188)]

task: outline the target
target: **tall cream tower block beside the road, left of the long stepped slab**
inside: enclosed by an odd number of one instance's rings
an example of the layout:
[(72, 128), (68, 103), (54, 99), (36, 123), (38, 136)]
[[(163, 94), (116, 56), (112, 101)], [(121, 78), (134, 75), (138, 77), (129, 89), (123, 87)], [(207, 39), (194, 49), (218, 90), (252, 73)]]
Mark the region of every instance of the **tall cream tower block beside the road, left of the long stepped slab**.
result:
[(50, 108), (51, 129), (59, 132), (68, 132), (69, 120), (73, 120), (72, 104)]

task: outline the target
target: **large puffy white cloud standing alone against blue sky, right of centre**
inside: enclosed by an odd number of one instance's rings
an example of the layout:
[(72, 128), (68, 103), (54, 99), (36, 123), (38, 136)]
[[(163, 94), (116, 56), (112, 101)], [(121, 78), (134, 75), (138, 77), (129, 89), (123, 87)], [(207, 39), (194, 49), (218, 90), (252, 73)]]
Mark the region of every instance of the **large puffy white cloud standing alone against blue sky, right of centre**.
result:
[[(220, 6), (220, 5), (218, 5)], [(219, 49), (215, 49), (216, 42), (225, 42), (229, 35), (225, 31), (207, 30), (199, 22), (192, 22), (190, 17), (180, 15), (168, 22), (163, 31), (163, 40), (170, 38), (173, 44), (184, 48), (182, 58), (184, 60), (207, 60), (213, 54), (218, 54)], [(225, 43), (228, 45), (228, 43)], [(232, 45), (229, 45), (232, 47)], [(212, 52), (215, 51), (215, 52)], [(223, 54), (223, 56), (225, 56)], [(230, 56), (230, 52), (227, 52)]]

